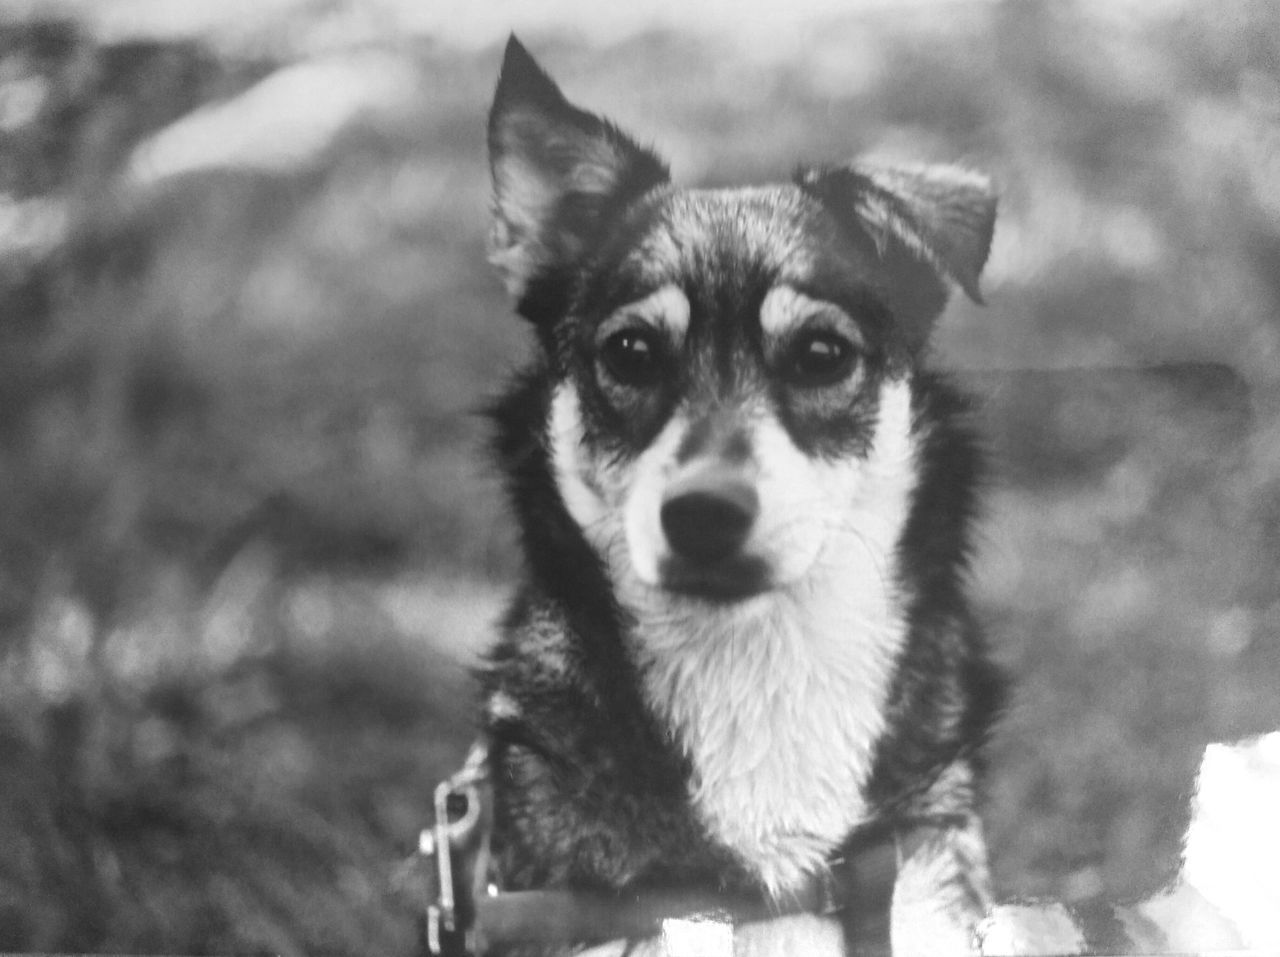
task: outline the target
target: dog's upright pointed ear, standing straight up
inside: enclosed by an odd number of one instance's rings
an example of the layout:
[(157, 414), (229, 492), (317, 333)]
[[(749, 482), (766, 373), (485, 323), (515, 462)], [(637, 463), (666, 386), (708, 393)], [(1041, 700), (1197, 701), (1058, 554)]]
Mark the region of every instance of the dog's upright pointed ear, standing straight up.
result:
[(604, 217), (668, 180), (666, 164), (577, 109), (515, 36), (489, 113), (490, 261), (517, 303), (572, 267)]

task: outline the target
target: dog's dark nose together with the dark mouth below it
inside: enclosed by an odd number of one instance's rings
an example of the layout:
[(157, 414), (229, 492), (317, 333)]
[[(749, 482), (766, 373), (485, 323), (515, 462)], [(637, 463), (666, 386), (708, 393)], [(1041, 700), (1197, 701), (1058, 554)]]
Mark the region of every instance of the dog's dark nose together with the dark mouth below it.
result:
[(739, 468), (707, 466), (672, 482), (660, 509), (671, 546), (663, 585), (721, 600), (760, 591), (767, 568), (744, 550), (759, 512), (755, 485)]

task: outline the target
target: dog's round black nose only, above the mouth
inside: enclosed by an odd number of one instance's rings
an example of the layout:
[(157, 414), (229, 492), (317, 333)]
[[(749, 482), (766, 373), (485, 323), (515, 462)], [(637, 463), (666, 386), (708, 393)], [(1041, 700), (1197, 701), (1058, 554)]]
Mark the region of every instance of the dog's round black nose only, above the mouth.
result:
[(754, 485), (736, 472), (708, 470), (667, 490), (662, 530), (676, 554), (710, 563), (742, 548), (759, 510)]

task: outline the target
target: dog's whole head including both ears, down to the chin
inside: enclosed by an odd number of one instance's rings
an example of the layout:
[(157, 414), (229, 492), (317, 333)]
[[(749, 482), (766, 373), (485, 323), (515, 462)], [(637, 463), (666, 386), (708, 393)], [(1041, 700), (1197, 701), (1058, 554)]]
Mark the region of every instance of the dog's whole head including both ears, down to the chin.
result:
[(493, 261), (554, 379), (557, 485), (620, 596), (749, 603), (850, 549), (883, 578), (913, 370), (948, 280), (978, 298), (988, 180), (849, 164), (676, 188), (515, 38), (489, 150)]

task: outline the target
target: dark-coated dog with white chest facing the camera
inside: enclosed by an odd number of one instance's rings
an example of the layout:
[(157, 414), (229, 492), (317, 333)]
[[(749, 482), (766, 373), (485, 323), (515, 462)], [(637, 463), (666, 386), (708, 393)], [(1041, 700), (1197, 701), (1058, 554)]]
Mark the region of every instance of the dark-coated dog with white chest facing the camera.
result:
[(980, 444), (927, 358), (951, 287), (980, 301), (991, 180), (680, 188), (515, 37), (488, 143), (536, 338), (494, 408), (525, 559), (479, 674), (494, 883), (707, 888), (764, 902), (740, 954), (865, 953), (855, 908), (783, 905), (888, 834), (893, 953), (970, 953), (1002, 679), (965, 599)]

